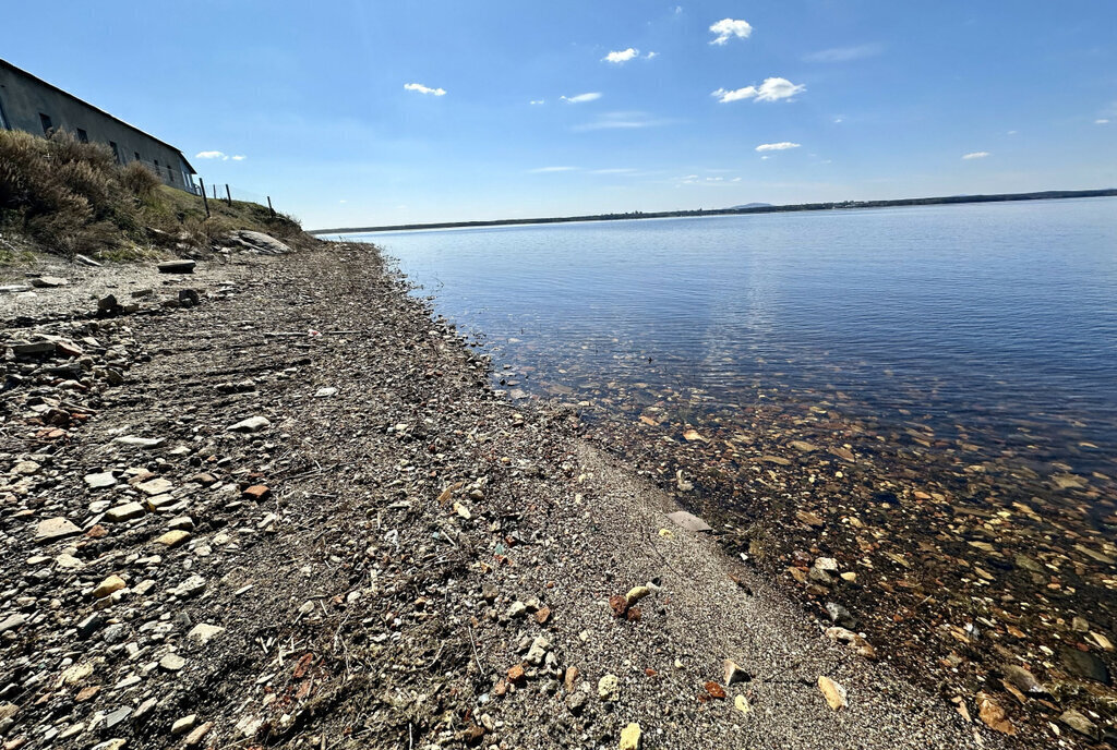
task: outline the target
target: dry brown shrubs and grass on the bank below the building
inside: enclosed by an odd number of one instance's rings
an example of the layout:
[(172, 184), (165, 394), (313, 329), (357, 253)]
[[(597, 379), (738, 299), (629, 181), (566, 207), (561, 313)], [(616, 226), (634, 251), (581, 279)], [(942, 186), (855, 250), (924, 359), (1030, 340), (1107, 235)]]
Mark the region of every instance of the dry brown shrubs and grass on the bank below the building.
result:
[(164, 185), (139, 162), (121, 166), (107, 146), (66, 131), (48, 137), (0, 131), (0, 233), (36, 250), (125, 260), (209, 249), (238, 229), (302, 234), (297, 220), (273, 217), (267, 206), (217, 200), (209, 206), (207, 217), (201, 196)]

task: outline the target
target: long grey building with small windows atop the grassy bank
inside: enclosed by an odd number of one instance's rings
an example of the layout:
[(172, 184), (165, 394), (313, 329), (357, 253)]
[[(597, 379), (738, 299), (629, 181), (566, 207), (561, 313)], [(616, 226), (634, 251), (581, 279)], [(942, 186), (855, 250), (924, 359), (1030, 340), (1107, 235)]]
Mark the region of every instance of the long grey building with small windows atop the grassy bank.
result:
[(198, 173), (181, 151), (2, 59), (0, 128), (36, 135), (64, 128), (78, 141), (106, 144), (120, 164), (143, 162), (168, 185), (198, 192)]

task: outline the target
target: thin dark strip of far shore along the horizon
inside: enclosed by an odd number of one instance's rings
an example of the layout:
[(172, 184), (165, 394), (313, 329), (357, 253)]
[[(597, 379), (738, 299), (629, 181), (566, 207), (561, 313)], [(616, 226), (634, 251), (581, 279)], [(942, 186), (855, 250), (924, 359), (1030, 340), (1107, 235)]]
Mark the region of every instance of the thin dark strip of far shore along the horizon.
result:
[(577, 221), (624, 221), (632, 219), (670, 219), (676, 217), (732, 217), (750, 213), (784, 213), (790, 211), (836, 211), (840, 209), (887, 209), (900, 205), (944, 205), (952, 203), (997, 203), (1004, 201), (1042, 201), (1067, 198), (1111, 198), (1117, 189), (1104, 190), (1048, 190), (1038, 193), (1001, 193), (995, 195), (945, 195), (942, 198), (901, 198), (890, 201), (838, 201), (834, 203), (795, 203), (790, 205), (760, 205), (743, 209), (699, 209), (696, 211), (656, 211), (645, 213), (599, 213), (585, 217), (553, 217), (542, 219), (494, 219), (490, 221), (443, 221), (428, 224), (391, 224), (384, 227), (341, 227), (315, 229), (308, 234), (363, 234), (367, 232), (401, 232), (420, 229), (462, 229), (470, 227), (506, 227), (510, 224), (562, 224)]

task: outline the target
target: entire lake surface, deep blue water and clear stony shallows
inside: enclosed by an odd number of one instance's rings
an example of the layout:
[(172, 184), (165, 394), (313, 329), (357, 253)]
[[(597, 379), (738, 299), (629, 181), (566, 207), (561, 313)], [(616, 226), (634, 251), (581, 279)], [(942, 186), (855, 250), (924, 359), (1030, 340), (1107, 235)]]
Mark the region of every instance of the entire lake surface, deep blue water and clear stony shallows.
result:
[(354, 239), (971, 713), (1117, 705), (1117, 200)]

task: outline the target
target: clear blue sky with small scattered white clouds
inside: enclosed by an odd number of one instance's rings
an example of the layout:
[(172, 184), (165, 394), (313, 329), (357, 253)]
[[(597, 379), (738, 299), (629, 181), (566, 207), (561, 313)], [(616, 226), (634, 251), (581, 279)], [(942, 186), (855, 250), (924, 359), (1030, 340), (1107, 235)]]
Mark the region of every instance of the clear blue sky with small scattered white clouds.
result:
[(308, 228), (1117, 186), (1109, 0), (10, 4), (0, 56)]

